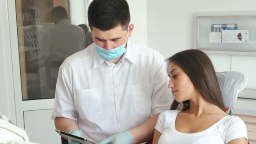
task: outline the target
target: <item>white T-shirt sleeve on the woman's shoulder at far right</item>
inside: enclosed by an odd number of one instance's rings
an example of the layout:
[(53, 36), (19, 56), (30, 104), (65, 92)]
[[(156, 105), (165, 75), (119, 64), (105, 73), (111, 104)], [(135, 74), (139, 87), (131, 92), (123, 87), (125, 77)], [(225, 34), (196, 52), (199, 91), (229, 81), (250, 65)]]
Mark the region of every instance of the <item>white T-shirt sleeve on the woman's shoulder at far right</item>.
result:
[(227, 126), (225, 142), (228, 143), (238, 138), (247, 139), (246, 125), (239, 117), (233, 117)]

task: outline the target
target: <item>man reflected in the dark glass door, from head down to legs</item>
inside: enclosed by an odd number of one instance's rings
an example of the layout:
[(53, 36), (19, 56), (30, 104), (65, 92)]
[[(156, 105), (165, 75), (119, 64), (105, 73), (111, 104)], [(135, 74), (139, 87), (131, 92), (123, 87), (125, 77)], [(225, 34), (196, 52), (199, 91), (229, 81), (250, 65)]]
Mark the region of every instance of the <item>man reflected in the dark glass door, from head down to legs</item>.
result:
[[(40, 82), (42, 88), (48, 88), (51, 97), (54, 96), (57, 74), (61, 63), (72, 54), (85, 48), (85, 33), (81, 27), (70, 24), (67, 11), (62, 6), (57, 6), (51, 11), (54, 26), (46, 30), (40, 48)], [(44, 93), (45, 89), (41, 89)], [(42, 94), (48, 96), (49, 93)]]

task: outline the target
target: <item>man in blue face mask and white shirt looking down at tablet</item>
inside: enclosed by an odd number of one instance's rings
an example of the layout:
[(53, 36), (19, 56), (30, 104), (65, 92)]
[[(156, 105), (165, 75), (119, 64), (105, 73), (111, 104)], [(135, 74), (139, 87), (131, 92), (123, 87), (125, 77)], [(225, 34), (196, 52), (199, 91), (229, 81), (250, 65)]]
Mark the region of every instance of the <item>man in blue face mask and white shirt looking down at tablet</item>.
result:
[(57, 129), (100, 144), (152, 139), (158, 114), (170, 109), (171, 91), (164, 58), (128, 40), (130, 19), (126, 0), (89, 6), (94, 44), (60, 67), (52, 115)]

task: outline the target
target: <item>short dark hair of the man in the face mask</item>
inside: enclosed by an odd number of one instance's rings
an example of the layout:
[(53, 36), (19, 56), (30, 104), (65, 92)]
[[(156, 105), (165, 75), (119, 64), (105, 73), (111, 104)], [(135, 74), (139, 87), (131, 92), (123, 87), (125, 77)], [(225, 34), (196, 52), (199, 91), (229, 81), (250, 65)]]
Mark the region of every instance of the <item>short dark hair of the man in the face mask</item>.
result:
[(88, 8), (88, 21), (91, 30), (93, 27), (107, 31), (121, 25), (123, 30), (128, 29), (131, 16), (126, 0), (93, 0)]

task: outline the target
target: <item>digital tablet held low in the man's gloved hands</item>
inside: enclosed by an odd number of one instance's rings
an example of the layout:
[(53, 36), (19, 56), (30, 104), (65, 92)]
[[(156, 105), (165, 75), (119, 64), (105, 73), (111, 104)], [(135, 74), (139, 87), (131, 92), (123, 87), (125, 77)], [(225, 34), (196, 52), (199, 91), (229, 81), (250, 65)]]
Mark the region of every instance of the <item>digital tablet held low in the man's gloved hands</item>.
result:
[(55, 131), (56, 131), (57, 133), (59, 133), (59, 135), (64, 136), (64, 137), (66, 137), (66, 138), (68, 138), (68, 139), (71, 139), (71, 140), (73, 140), (73, 141), (80, 142), (81, 144), (97, 144), (96, 142), (91, 141), (91, 140), (89, 140), (89, 139), (84, 139), (84, 138), (81, 138), (81, 137), (79, 137), (79, 136), (72, 135), (72, 134), (67, 133), (67, 132), (64, 132), (64, 131), (60, 131), (60, 130), (56, 130), (56, 129), (55, 129)]

